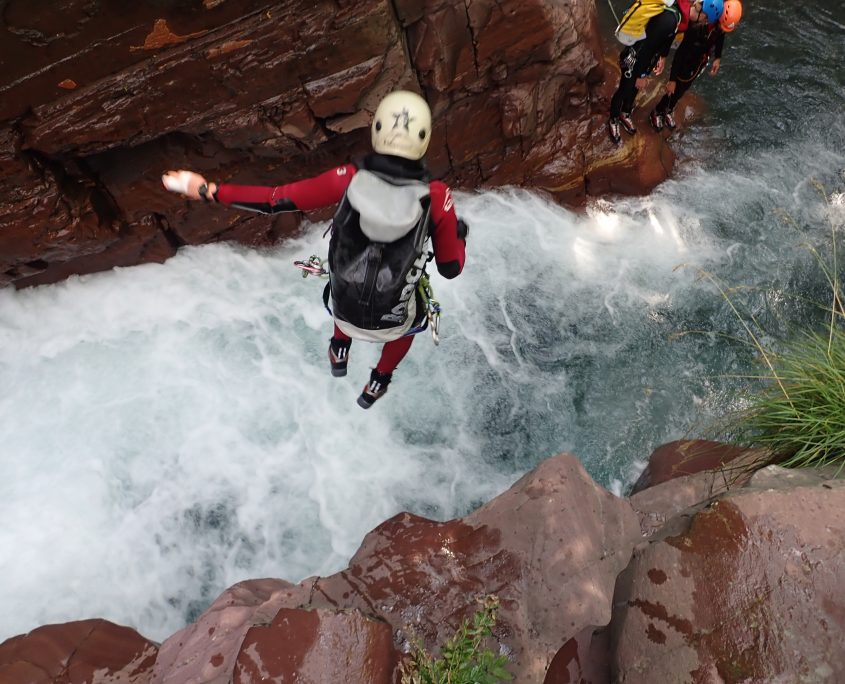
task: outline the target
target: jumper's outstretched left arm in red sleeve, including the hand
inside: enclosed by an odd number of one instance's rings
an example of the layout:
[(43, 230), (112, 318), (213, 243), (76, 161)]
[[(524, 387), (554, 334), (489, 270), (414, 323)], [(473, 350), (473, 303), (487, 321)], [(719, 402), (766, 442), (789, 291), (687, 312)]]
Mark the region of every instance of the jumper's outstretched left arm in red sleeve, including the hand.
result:
[[(164, 187), (188, 199), (207, 199), (238, 209), (275, 214), (280, 211), (309, 211), (337, 204), (355, 175), (355, 166), (345, 164), (319, 176), (286, 185), (234, 185), (209, 183), (192, 171), (168, 171)], [(204, 191), (204, 192), (203, 192)]]

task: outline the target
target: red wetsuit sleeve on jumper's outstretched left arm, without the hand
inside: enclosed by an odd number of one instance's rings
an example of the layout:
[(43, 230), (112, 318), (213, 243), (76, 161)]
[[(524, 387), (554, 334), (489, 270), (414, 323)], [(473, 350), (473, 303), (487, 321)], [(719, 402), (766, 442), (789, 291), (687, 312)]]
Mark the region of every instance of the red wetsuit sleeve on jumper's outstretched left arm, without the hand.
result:
[(221, 204), (262, 214), (309, 211), (340, 202), (354, 175), (355, 165), (345, 164), (314, 178), (274, 187), (222, 183), (216, 198)]

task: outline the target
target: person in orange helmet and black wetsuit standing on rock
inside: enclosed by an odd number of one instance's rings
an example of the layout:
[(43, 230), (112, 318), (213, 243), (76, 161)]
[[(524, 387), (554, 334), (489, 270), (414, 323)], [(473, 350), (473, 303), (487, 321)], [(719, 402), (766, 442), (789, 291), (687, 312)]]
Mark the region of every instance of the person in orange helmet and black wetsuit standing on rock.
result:
[(690, 89), (695, 79), (707, 68), (711, 56), (713, 64), (710, 67), (710, 75), (715, 76), (719, 73), (725, 34), (737, 27), (740, 18), (742, 18), (740, 0), (727, 0), (718, 23), (701, 21), (690, 25), (672, 59), (666, 94), (649, 115), (649, 121), (654, 130), (663, 130), (664, 124), (670, 130), (675, 129), (675, 105)]

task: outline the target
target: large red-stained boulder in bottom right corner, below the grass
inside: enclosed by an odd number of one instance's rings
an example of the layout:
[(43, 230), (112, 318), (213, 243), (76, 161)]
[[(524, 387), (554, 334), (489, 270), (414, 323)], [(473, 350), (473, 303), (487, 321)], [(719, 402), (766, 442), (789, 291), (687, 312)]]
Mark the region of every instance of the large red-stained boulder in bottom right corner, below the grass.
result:
[(613, 681), (845, 681), (843, 586), (845, 481), (735, 490), (620, 575)]

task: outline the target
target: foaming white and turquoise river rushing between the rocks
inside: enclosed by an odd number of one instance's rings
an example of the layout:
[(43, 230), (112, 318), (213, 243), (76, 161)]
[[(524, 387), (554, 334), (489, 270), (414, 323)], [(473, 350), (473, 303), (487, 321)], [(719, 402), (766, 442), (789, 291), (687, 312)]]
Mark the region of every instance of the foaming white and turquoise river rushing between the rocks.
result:
[(807, 245), (829, 257), (845, 220), (845, 33), (820, 5), (748, 14), (650, 196), (458, 194), (442, 342), (369, 412), (377, 348), (332, 378), (321, 285), (291, 265), (323, 225), (0, 291), (0, 640), (94, 616), (162, 639), (241, 579), (344, 567), (399, 511), (462, 515), (561, 451), (622, 491), (702, 434), (754, 359), (713, 280), (770, 332), (820, 317)]

